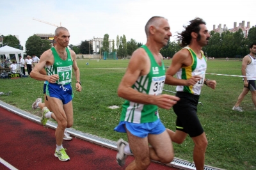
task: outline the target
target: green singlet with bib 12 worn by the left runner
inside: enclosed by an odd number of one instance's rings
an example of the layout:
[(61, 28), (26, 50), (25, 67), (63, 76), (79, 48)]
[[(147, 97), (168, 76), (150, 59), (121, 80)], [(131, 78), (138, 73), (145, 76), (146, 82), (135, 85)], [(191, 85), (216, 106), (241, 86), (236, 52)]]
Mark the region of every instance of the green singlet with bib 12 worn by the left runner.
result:
[(68, 84), (71, 82), (72, 79), (72, 65), (73, 61), (70, 56), (70, 52), (68, 48), (66, 48), (67, 51), (67, 59), (63, 60), (58, 55), (56, 49), (54, 47), (51, 48), (52, 54), (54, 56), (54, 63), (50, 66), (45, 66), (45, 70), (47, 72), (47, 75), (53, 75), (58, 74), (59, 78), (56, 82), (57, 84)]

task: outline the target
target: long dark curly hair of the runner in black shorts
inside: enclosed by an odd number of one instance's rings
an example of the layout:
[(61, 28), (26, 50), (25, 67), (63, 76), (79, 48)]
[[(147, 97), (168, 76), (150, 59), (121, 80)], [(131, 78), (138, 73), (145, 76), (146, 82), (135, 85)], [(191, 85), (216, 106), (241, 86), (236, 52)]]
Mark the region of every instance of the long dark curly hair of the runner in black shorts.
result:
[(199, 31), (200, 31), (200, 24), (205, 24), (206, 23), (204, 22), (204, 20), (196, 17), (195, 19), (193, 20), (190, 20), (189, 21), (189, 25), (188, 26), (183, 26), (185, 28), (184, 31), (182, 31), (181, 33), (178, 33), (177, 37), (178, 37), (178, 40), (181, 42), (180, 46), (181, 47), (186, 47), (190, 44), (191, 42), (191, 33), (192, 32), (195, 32), (195, 33), (198, 33), (198, 37), (197, 37), (197, 40), (200, 40), (200, 34), (199, 34)]

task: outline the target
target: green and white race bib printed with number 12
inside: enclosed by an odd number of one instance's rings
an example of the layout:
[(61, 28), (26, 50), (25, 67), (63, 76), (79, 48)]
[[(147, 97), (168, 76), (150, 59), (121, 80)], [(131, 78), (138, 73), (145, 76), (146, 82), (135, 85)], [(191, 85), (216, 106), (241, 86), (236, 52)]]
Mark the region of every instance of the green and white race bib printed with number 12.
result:
[(59, 75), (58, 84), (67, 84), (71, 82), (72, 76), (72, 66), (61, 66), (57, 68), (57, 73)]

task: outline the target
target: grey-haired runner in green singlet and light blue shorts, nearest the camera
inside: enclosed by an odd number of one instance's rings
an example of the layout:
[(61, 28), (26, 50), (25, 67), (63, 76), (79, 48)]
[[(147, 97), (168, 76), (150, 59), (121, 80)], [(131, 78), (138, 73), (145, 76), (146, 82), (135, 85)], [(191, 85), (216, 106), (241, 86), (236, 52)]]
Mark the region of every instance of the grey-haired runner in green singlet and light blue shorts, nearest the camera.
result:
[(171, 95), (161, 95), (165, 70), (159, 51), (172, 33), (168, 20), (163, 17), (148, 20), (145, 31), (147, 43), (133, 52), (118, 87), (118, 96), (125, 98), (125, 103), (115, 130), (126, 132), (129, 144), (122, 139), (118, 141), (116, 161), (124, 166), (131, 151), (135, 157), (126, 169), (147, 169), (150, 159), (167, 163), (174, 157), (172, 141), (158, 113), (158, 107), (170, 109), (179, 100)]

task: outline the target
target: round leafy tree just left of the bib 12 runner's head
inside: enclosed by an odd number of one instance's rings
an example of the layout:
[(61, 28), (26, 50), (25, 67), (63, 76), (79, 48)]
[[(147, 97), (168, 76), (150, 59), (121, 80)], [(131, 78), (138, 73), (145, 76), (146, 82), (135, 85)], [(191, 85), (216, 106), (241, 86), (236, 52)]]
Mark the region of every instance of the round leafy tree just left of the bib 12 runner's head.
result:
[(29, 36), (26, 41), (26, 53), (29, 56), (35, 54), (36, 56), (41, 56), (41, 54), (51, 48), (51, 43), (47, 40), (42, 40), (39, 36), (33, 35)]

